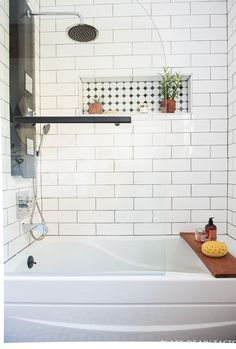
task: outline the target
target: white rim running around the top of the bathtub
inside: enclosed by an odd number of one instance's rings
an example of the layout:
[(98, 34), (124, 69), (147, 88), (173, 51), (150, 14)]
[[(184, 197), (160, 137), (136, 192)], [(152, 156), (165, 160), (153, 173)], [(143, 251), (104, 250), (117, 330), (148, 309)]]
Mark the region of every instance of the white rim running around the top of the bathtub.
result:
[[(53, 243), (62, 243), (62, 242), (85, 242), (87, 243), (87, 241), (93, 241), (93, 240), (112, 240), (112, 241), (119, 241), (119, 240), (123, 240), (123, 239), (127, 239), (129, 241), (132, 241), (133, 239), (135, 239), (136, 241), (142, 241), (144, 240), (164, 240), (165, 242), (170, 240), (170, 241), (180, 241), (180, 243), (184, 246), (184, 248), (186, 247), (186, 249), (188, 250), (188, 253), (190, 253), (191, 251), (191, 257), (193, 259), (195, 259), (195, 261), (198, 263), (198, 267), (200, 267), (200, 270), (187, 270), (187, 271), (179, 271), (179, 270), (168, 270), (168, 269), (164, 269), (161, 270), (160, 273), (156, 273), (155, 271), (139, 271), (139, 272), (91, 272), (91, 273), (58, 273), (58, 272), (50, 272), (50, 273), (45, 273), (45, 272), (36, 272), (35, 274), (32, 273), (33, 270), (30, 270), (30, 274), (29, 274), (29, 270), (27, 270), (27, 272), (22, 272), (22, 271), (17, 271), (17, 270), (11, 270), (11, 266), (14, 267), (14, 260), (15, 259), (23, 259), (25, 257), (26, 254), (30, 254), (31, 249), (32, 252), (34, 252), (34, 250), (38, 250), (41, 247), (41, 244), (53, 244)], [(225, 241), (226, 245), (228, 247), (229, 252), (234, 255), (236, 257), (236, 240), (234, 240), (233, 238), (231, 238), (230, 236), (226, 235), (226, 234), (221, 234), (218, 235), (217, 237), (218, 241)], [(166, 258), (166, 253), (165, 253), (165, 258)], [(166, 260), (165, 260), (166, 263)], [(9, 266), (9, 268), (8, 268)], [(98, 278), (109, 278), (109, 277), (115, 277), (115, 278), (126, 278), (126, 277), (132, 277), (132, 278), (136, 278), (136, 277), (141, 277), (145, 276), (145, 278), (150, 278), (152, 279), (153, 277), (156, 278), (161, 278), (164, 276), (164, 278), (166, 278), (166, 276), (168, 276), (168, 278), (179, 278), (182, 277), (183, 279), (191, 278), (191, 275), (193, 276), (193, 279), (196, 278), (196, 276), (198, 277), (202, 277), (202, 278), (206, 278), (206, 275), (210, 276), (210, 278), (212, 277), (211, 273), (209, 272), (209, 270), (207, 269), (207, 267), (204, 265), (204, 263), (200, 260), (200, 258), (198, 258), (198, 256), (196, 256), (196, 254), (194, 253), (194, 251), (191, 249), (191, 247), (187, 244), (187, 242), (181, 238), (180, 235), (151, 235), (151, 236), (104, 236), (104, 235), (90, 235), (90, 236), (79, 236), (79, 235), (69, 235), (69, 236), (55, 236), (55, 235), (49, 235), (46, 236), (46, 240), (44, 241), (35, 241), (32, 244), (30, 244), (29, 246), (25, 247), (24, 249), (22, 249), (21, 251), (19, 251), (16, 255), (12, 256), (10, 259), (8, 259), (5, 263), (4, 263), (4, 278), (24, 278), (24, 277), (36, 277), (36, 278), (54, 278), (57, 279), (60, 277), (67, 277), (67, 278), (93, 278), (94, 280), (96, 279), (96, 277)], [(214, 278), (214, 277), (213, 277)], [(231, 278), (230, 278), (231, 279)], [(233, 278), (232, 278), (233, 279)]]

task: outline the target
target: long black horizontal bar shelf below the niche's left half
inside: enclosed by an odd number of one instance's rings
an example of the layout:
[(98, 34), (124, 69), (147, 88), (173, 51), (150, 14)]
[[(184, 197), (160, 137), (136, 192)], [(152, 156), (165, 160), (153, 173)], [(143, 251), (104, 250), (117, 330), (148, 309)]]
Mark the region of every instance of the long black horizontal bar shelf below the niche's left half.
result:
[(130, 116), (15, 116), (15, 124), (130, 124)]

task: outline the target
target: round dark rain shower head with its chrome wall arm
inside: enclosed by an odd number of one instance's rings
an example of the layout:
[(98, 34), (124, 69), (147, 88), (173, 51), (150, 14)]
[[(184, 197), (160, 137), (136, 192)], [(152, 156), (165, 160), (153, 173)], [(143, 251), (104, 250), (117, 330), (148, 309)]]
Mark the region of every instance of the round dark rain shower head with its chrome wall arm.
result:
[(92, 25), (85, 24), (83, 17), (78, 12), (32, 12), (27, 11), (27, 16), (77, 16), (80, 23), (67, 28), (67, 33), (70, 39), (77, 42), (90, 42), (96, 40), (98, 37), (98, 30)]

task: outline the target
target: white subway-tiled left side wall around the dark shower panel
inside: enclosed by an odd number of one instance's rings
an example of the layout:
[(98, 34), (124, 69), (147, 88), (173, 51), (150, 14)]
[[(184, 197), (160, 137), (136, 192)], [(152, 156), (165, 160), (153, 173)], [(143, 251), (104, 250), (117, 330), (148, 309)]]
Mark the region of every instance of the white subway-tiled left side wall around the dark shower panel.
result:
[[(39, 1), (30, 0), (32, 9), (39, 10)], [(36, 65), (36, 100), (39, 97), (39, 21), (35, 21), (35, 65)], [(23, 234), (16, 214), (16, 194), (19, 190), (32, 193), (32, 180), (11, 176), (10, 161), (10, 115), (9, 115), (9, 1), (0, 2), (0, 111), (2, 125), (3, 157), (3, 218), (4, 218), (4, 260), (9, 259), (31, 242), (28, 233)], [(26, 220), (29, 220), (29, 217)], [(26, 221), (25, 220), (25, 221)]]

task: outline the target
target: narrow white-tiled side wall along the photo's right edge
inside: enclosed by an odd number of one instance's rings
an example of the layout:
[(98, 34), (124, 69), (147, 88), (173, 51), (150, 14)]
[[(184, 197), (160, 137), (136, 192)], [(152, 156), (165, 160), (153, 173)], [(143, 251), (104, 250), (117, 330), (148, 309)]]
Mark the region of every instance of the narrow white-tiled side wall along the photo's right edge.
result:
[(228, 234), (236, 239), (236, 2), (228, 1)]

